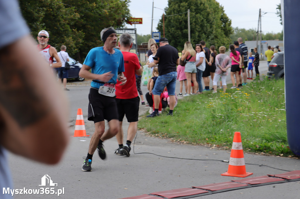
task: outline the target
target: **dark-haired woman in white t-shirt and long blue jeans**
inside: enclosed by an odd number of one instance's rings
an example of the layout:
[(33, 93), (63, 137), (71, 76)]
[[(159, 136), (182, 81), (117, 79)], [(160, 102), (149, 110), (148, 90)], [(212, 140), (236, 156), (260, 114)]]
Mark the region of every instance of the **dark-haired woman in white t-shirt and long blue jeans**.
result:
[(197, 82), (199, 86), (199, 94), (202, 94), (203, 87), (202, 87), (202, 73), (205, 70), (205, 53), (203, 48), (200, 44), (196, 44), (196, 67), (197, 67)]

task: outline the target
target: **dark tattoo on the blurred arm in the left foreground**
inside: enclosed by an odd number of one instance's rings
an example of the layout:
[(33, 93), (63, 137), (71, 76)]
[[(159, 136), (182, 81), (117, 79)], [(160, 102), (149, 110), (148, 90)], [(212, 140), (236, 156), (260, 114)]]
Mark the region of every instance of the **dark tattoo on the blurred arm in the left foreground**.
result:
[(26, 65), (14, 59), (12, 50), (0, 50), (0, 105), (20, 127), (37, 122), (49, 111), (44, 100), (34, 89)]

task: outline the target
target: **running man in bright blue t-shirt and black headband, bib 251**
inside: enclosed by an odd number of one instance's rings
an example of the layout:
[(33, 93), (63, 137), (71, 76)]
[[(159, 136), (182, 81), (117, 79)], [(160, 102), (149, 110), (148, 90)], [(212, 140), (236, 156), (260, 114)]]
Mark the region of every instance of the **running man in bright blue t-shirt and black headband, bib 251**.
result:
[[(82, 165), (82, 171), (91, 171), (92, 157), (98, 150), (99, 157), (104, 160), (106, 153), (102, 142), (114, 137), (119, 131), (119, 116), (115, 100), (115, 84), (117, 78), (124, 85), (124, 59), (117, 45), (117, 34), (113, 27), (104, 28), (100, 33), (104, 42), (103, 47), (96, 47), (89, 51), (79, 71), (79, 76), (93, 79), (88, 95), (88, 120), (94, 121), (95, 132), (91, 137), (87, 157)], [(91, 72), (89, 70), (91, 69)], [(109, 129), (104, 131), (108, 121)]]

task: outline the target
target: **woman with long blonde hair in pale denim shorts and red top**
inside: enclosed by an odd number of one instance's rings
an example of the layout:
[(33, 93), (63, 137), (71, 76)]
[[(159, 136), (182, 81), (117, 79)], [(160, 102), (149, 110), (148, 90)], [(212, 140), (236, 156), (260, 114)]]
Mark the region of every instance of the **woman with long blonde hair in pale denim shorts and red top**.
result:
[[(191, 95), (190, 88), (192, 85), (192, 82), (194, 83), (195, 87), (195, 92), (198, 91), (198, 82), (196, 79), (196, 73), (197, 73), (197, 68), (195, 64), (195, 59), (196, 59), (196, 51), (193, 49), (193, 46), (190, 42), (185, 42), (184, 43), (184, 50), (182, 51), (182, 56), (181, 60), (184, 61), (184, 59), (189, 59), (188, 62), (185, 64), (185, 75), (187, 77), (187, 94), (184, 96), (189, 96)], [(192, 94), (197, 94), (197, 93), (192, 93)]]

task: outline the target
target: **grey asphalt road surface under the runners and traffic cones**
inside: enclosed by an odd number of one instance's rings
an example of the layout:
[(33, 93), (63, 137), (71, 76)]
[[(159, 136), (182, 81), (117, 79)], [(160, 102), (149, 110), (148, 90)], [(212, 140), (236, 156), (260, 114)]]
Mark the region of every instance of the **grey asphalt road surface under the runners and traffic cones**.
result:
[[(94, 124), (86, 119), (88, 83), (88, 81), (71, 82), (67, 85), (70, 88), (70, 91), (66, 91), (70, 101), (70, 144), (58, 165), (48, 166), (9, 154), (9, 166), (13, 175), (14, 189), (54, 188), (54, 192), (63, 189), (64, 194), (59, 197), (50, 194), (27, 194), (15, 195), (15, 198), (116, 199), (237, 179), (236, 177), (220, 175), (227, 171), (228, 163), (219, 160), (229, 160), (230, 151), (208, 146), (183, 145), (167, 139), (149, 137), (143, 131), (137, 132), (134, 151), (131, 151), (130, 157), (114, 154), (118, 145), (116, 139), (112, 138), (104, 142), (107, 160), (99, 159), (95, 153), (92, 162), (93, 171), (82, 172), (82, 157), (87, 154), (91, 136), (71, 137), (71, 135), (74, 133), (77, 108), (82, 108), (87, 134), (92, 135), (94, 131)], [(178, 90), (179, 86), (176, 88), (176, 91)], [(146, 88), (143, 88), (143, 92), (145, 91)], [(143, 114), (148, 108), (145, 105), (140, 105), (140, 114)], [(159, 118), (157, 120), (159, 122)], [(126, 119), (123, 122), (123, 129), (126, 135), (128, 123), (125, 121)], [(253, 172), (253, 175), (249, 177), (284, 172), (278, 169), (300, 170), (298, 159), (256, 154), (244, 154), (244, 156), (247, 172)], [(263, 164), (277, 169), (249, 165), (249, 163)], [(53, 183), (57, 183), (58, 186), (39, 186), (42, 185), (41, 178), (45, 174), (49, 175)], [(196, 198), (298, 198), (299, 183), (300, 181), (265, 185)]]

